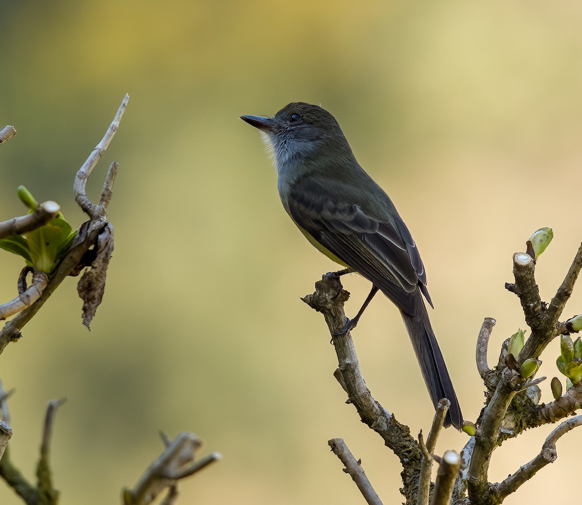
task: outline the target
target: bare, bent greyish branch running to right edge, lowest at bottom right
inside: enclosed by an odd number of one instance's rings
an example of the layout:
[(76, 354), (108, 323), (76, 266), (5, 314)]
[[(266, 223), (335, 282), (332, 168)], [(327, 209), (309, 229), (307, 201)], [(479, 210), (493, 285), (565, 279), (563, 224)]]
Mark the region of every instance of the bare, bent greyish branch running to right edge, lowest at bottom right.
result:
[(546, 438), (540, 454), (538, 454), (529, 463), (526, 463), (520, 467), (517, 472), (515, 472), (513, 475), (510, 475), (505, 479), (505, 481), (495, 485), (496, 495), (499, 499), (497, 503), (501, 503), (506, 496), (515, 492), (519, 486), (530, 480), (536, 474), (536, 472), (544, 468), (545, 465), (556, 461), (556, 458), (558, 458), (556, 442), (562, 435), (580, 425), (582, 425), (582, 415), (577, 415), (576, 417), (572, 417), (567, 421), (562, 422), (562, 424), (554, 429), (552, 433), (548, 435), (548, 438)]

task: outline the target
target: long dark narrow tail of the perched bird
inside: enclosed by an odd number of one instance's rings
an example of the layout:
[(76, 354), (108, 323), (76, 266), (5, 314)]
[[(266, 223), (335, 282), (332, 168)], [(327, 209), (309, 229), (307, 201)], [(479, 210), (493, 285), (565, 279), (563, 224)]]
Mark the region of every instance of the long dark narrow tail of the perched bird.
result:
[[(420, 293), (418, 293), (418, 296), (420, 298)], [(455, 428), (461, 429), (463, 414), (461, 414), (459, 400), (457, 400), (455, 389), (453, 389), (453, 384), (450, 382), (449, 372), (446, 369), (445, 360), (432, 331), (423, 300), (419, 299), (416, 315), (411, 316), (402, 311), (400, 311), (400, 314), (402, 314), (402, 319), (404, 319), (404, 324), (406, 324), (406, 329), (410, 335), (418, 364), (420, 364), (420, 368), (423, 371), (424, 382), (427, 384), (432, 403), (436, 407), (440, 399), (448, 399), (450, 408), (446, 414), (445, 426), (452, 424)]]

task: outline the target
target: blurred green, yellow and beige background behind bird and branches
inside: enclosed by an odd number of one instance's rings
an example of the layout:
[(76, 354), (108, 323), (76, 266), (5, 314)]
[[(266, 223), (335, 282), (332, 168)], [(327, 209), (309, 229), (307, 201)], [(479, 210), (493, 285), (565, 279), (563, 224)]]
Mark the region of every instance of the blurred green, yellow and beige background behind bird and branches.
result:
[[(241, 114), (290, 101), (336, 116), (361, 165), (391, 195), (423, 255), (433, 326), (466, 418), (483, 389), (474, 365), (482, 319), (502, 341), (524, 327), (512, 254), (541, 226), (549, 300), (582, 239), (582, 3), (492, 1), (20, 1), (0, 11), (0, 211), (16, 186), (56, 200), (79, 225), (76, 170), (126, 92), (118, 133), (88, 185), (120, 162), (109, 218), (115, 254), (91, 332), (66, 281), (0, 358), (32, 478), (47, 401), (62, 503), (116, 503), (169, 436), (194, 431), (223, 461), (180, 486), (179, 503), (360, 503), (329, 453), (342, 436), (384, 503), (400, 503), (399, 465), (359, 422), (332, 377), (320, 315), (299, 300), (335, 266), (285, 215), (257, 131)], [(19, 258), (2, 254), (0, 298)], [(345, 279), (354, 314), (368, 284)], [(582, 287), (580, 288), (582, 291)], [(582, 309), (574, 293), (566, 315)], [(413, 433), (432, 407), (398, 311), (377, 297), (356, 332), (374, 396)], [(558, 375), (558, 344), (541, 373)], [(542, 386), (549, 400), (549, 384)], [(496, 451), (499, 481), (538, 453), (549, 426)], [(545, 503), (579, 457), (581, 433), (506, 503)], [(447, 430), (438, 451), (461, 449)], [(0, 485), (2, 504), (20, 503)]]

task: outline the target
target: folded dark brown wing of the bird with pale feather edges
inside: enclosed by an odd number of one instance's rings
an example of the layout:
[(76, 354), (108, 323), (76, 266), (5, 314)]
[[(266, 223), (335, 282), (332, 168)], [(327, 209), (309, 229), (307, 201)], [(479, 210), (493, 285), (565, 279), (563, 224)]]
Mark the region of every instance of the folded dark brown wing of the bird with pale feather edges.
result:
[[(418, 248), (398, 214), (372, 218), (360, 205), (340, 201), (336, 193), (314, 177), (304, 177), (289, 192), (289, 214), (322, 246), (379, 287), (400, 310), (416, 312), (417, 287), (431, 303)], [(347, 187), (342, 191), (346, 193)]]

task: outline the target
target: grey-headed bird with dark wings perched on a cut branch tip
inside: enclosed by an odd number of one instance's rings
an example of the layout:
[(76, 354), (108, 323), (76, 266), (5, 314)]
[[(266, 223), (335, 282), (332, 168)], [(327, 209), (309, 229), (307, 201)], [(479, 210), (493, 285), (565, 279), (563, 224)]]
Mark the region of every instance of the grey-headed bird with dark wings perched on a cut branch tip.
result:
[[(274, 116), (240, 116), (260, 130), (274, 160), (279, 196), (321, 253), (372, 283), (353, 329), (376, 291), (398, 307), (432, 403), (450, 401), (445, 426), (463, 417), (424, 300), (427, 276), (409, 229), (385, 191), (356, 161), (338, 121), (325, 109), (292, 102)], [(423, 300), (424, 298), (424, 300)]]

